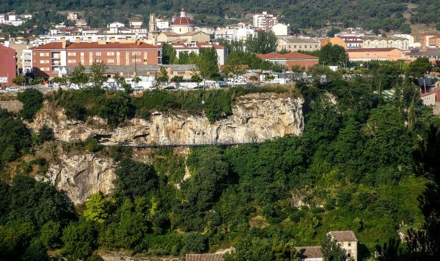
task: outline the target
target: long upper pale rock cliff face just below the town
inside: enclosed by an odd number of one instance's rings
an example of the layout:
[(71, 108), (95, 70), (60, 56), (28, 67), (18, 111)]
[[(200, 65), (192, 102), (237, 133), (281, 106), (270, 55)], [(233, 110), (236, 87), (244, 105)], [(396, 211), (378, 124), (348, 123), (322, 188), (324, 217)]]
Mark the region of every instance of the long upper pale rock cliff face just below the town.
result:
[[(237, 98), (232, 115), (210, 124), (208, 118), (153, 113), (151, 120), (135, 118), (111, 130), (102, 119), (84, 122), (67, 120), (63, 112), (48, 113), (47, 104), (30, 124), (38, 130), (46, 124), (56, 139), (72, 141), (98, 137), (103, 142), (144, 144), (206, 144), (210, 142), (259, 142), (303, 132), (303, 99), (293, 95), (252, 93)], [(52, 109), (53, 110), (53, 109)]]

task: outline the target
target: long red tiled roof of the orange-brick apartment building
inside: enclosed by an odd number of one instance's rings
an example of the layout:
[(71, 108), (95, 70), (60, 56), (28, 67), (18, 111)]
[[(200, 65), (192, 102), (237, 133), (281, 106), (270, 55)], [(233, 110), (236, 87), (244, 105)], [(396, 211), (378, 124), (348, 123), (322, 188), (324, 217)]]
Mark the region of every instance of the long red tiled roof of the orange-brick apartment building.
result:
[[(70, 43), (67, 45), (66, 49), (156, 49), (160, 48), (156, 45), (150, 45), (148, 43), (141, 42), (139, 45), (137, 43)], [(61, 42), (52, 42), (45, 45), (40, 45), (39, 47), (33, 47), (34, 50), (52, 50), (52, 49), (63, 49), (63, 44)]]

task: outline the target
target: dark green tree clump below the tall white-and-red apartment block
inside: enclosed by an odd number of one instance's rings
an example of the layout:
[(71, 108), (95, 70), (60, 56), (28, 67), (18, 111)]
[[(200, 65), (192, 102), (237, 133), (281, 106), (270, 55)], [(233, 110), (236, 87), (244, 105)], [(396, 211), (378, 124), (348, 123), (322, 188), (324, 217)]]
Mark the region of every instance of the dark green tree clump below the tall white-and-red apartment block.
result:
[(249, 36), (245, 43), (248, 52), (256, 54), (269, 54), (276, 52), (278, 38), (272, 32), (257, 32), (256, 36)]

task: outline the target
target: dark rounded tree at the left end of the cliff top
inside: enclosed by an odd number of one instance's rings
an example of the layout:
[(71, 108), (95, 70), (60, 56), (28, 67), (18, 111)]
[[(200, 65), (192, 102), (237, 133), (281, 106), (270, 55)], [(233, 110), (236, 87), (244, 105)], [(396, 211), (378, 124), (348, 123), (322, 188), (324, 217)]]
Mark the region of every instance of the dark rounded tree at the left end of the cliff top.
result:
[(21, 117), (32, 122), (37, 111), (43, 107), (43, 94), (37, 89), (25, 89), (23, 93), (19, 93), (18, 98), (20, 102), (23, 102)]

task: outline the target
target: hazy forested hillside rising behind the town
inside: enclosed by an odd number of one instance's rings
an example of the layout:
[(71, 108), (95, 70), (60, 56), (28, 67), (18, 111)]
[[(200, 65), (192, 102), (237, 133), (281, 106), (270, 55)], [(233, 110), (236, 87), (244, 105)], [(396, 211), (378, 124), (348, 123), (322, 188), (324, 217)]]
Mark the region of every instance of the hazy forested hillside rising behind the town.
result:
[[(419, 4), (412, 10), (409, 21), (404, 17), (408, 11), (407, 4)], [(361, 26), (373, 30), (407, 30), (409, 23), (440, 22), (440, 5), (435, 0), (50, 0), (37, 1), (29, 4), (28, 1), (1, 1), (0, 13), (15, 11), (19, 14), (36, 12), (33, 24), (38, 28), (29, 29), (41, 33), (47, 30), (49, 22), (60, 23), (65, 20), (56, 14), (56, 11), (84, 12), (84, 18), (91, 27), (104, 26), (113, 21), (127, 23), (133, 15), (141, 15), (144, 21), (149, 13), (171, 17), (178, 13), (181, 7), (195, 15), (199, 25), (225, 25), (245, 19), (246, 14), (269, 11), (278, 16), (284, 23), (289, 23), (292, 29), (321, 28), (328, 25), (340, 27)], [(33, 25), (32, 24), (32, 25)]]

